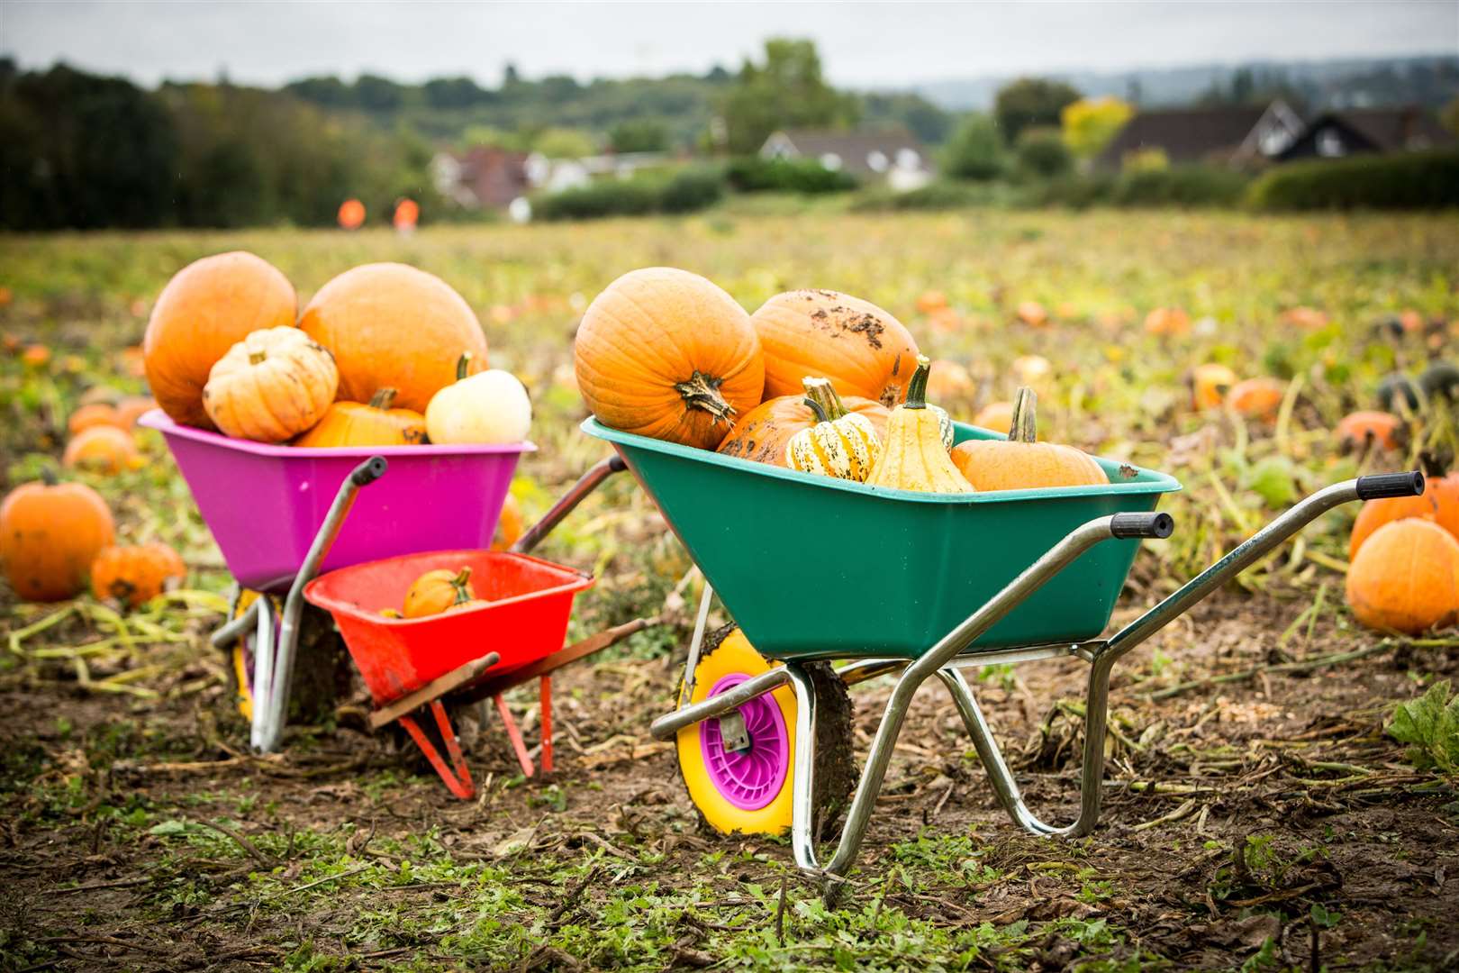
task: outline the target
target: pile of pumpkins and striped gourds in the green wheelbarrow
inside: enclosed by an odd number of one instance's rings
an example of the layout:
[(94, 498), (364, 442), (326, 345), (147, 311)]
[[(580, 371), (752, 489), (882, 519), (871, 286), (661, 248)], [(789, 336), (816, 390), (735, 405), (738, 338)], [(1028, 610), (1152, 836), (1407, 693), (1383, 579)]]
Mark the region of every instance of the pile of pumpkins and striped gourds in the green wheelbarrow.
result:
[(776, 295), (753, 315), (671, 267), (635, 270), (588, 306), (573, 344), (598, 422), (877, 489), (969, 493), (1109, 483), (1072, 446), (1037, 442), (1020, 388), (1007, 441), (953, 446), (926, 401), (929, 360), (881, 308), (833, 290)]

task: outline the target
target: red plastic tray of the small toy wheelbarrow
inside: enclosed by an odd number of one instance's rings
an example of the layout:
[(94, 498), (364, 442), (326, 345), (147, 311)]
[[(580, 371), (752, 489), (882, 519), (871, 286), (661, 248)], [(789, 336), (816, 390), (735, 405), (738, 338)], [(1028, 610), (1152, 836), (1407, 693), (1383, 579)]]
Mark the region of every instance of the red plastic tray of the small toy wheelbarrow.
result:
[[(427, 570), (471, 569), (477, 598), (492, 604), (425, 619), (385, 619)], [(498, 677), (562, 648), (573, 597), (592, 576), (527, 554), (487, 550), (403, 554), (340, 567), (311, 581), (303, 597), (334, 616), (376, 706), (385, 706), (487, 652)]]

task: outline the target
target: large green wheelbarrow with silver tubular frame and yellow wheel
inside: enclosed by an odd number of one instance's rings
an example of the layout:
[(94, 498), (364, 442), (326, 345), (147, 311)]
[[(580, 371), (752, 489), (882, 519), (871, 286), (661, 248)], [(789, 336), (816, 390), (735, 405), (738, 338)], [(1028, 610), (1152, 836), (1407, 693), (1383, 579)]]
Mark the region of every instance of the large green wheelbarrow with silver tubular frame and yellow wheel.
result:
[[(932, 495), (872, 490), (594, 419), (582, 430), (613, 443), (706, 581), (680, 705), (651, 732), (677, 741), (690, 798), (709, 824), (788, 827), (795, 864), (829, 893), (856, 859), (907, 706), (929, 677), (951, 694), (1014, 823), (1043, 836), (1088, 834), (1100, 813), (1115, 662), (1326, 511), (1424, 489), (1420, 473), (1390, 473), (1319, 490), (1100, 639), (1139, 540), (1174, 528), (1156, 512), (1163, 493), (1180, 489), (1163, 473), (1099, 460), (1107, 486)], [(954, 438), (999, 435), (956, 423)], [(706, 637), (713, 594), (740, 632)], [(1058, 827), (1024, 804), (963, 670), (1065, 656), (1088, 662), (1090, 674), (1080, 814)], [(897, 681), (858, 779), (846, 687), (883, 674)], [(836, 848), (820, 864), (818, 839), (842, 811)]]

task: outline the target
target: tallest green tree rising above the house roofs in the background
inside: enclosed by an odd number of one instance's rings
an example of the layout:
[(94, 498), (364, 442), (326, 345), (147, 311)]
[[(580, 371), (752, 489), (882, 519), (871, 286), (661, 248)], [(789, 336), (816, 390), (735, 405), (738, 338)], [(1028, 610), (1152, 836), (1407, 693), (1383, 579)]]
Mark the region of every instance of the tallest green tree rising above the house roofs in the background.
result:
[(746, 60), (740, 69), (725, 93), (722, 115), (730, 152), (750, 155), (776, 128), (851, 125), (859, 105), (854, 95), (837, 92), (821, 77), (813, 41), (770, 38), (765, 42), (765, 63)]

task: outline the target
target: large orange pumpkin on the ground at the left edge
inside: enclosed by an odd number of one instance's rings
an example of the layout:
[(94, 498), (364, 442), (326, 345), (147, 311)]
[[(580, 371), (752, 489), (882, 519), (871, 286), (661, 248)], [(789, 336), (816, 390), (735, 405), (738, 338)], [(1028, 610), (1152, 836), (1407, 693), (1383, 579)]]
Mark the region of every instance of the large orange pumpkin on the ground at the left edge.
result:
[(26, 601), (60, 601), (86, 586), (115, 524), (107, 502), (82, 483), (26, 483), (0, 503), (0, 565)]

